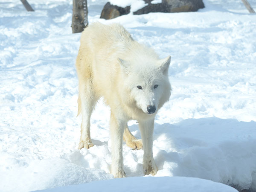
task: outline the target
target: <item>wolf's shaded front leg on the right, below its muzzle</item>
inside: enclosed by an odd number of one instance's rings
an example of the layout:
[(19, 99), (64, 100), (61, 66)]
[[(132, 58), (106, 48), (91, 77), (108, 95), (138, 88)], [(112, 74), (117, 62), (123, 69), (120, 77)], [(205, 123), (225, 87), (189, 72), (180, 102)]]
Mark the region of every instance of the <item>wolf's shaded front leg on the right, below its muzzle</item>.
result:
[(139, 123), (140, 133), (143, 142), (143, 168), (145, 175), (156, 175), (157, 166), (153, 158), (153, 131), (154, 131), (154, 119), (148, 119), (145, 121), (140, 121)]

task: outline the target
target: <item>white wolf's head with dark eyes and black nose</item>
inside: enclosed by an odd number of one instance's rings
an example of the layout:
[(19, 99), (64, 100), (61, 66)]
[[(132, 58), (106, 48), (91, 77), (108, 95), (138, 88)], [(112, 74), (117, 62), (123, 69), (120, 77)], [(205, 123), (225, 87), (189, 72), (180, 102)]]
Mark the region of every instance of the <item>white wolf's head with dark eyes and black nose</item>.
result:
[(130, 98), (136, 102), (137, 108), (148, 115), (156, 114), (169, 100), (170, 61), (170, 56), (160, 60), (140, 57), (127, 61), (119, 58), (124, 86), (130, 91)]

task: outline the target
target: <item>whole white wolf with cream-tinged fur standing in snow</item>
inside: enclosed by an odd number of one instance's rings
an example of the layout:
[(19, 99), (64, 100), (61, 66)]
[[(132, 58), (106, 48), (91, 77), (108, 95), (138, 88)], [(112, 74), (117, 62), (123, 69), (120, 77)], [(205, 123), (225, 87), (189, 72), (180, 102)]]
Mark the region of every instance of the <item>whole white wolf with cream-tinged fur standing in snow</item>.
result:
[(155, 175), (153, 159), (154, 117), (169, 100), (171, 85), (168, 68), (171, 57), (159, 59), (148, 47), (139, 44), (119, 24), (93, 23), (81, 34), (76, 59), (79, 78), (78, 115), (82, 114), (79, 149), (90, 148), (90, 116), (100, 97), (111, 108), (111, 173), (125, 177), (122, 140), (132, 148), (141, 148), (127, 122), (136, 119), (143, 141), (144, 174)]

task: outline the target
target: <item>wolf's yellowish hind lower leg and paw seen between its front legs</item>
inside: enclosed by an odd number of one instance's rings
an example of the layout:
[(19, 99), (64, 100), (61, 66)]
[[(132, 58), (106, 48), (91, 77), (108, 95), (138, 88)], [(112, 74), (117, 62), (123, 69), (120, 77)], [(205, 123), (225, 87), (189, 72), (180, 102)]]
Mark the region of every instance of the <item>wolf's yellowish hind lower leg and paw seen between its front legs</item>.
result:
[(123, 140), (125, 141), (128, 147), (131, 147), (134, 150), (143, 148), (142, 140), (138, 140), (136, 137), (134, 137), (133, 134), (131, 134), (131, 131), (129, 130), (127, 123), (125, 125)]

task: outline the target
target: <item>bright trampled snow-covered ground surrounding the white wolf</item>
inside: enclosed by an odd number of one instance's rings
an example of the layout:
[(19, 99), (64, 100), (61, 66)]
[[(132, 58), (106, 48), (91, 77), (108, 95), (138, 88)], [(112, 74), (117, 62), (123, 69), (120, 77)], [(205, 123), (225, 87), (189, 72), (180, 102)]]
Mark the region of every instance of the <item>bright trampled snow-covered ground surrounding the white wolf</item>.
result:
[[(249, 2), (256, 9), (256, 0)], [(104, 185), (88, 183), (113, 178), (110, 111), (102, 101), (91, 119), (96, 145), (78, 150), (74, 64), (80, 34), (70, 27), (72, 1), (29, 3), (35, 12), (26, 12), (17, 0), (0, 2), (0, 191)], [(154, 130), (159, 186), (165, 180), (173, 183), (170, 188), (204, 186), (202, 180), (184, 178), (198, 177), (255, 191), (256, 15), (248, 14), (241, 0), (204, 0), (206, 8), (198, 12), (102, 20), (105, 3), (88, 0), (89, 23), (121, 23), (160, 57), (172, 56), (172, 96), (157, 114)], [(140, 138), (136, 121), (129, 125)], [(143, 151), (125, 143), (123, 148), (125, 172), (136, 177), (108, 181), (113, 185), (143, 176)]]

